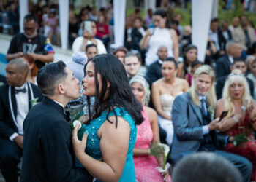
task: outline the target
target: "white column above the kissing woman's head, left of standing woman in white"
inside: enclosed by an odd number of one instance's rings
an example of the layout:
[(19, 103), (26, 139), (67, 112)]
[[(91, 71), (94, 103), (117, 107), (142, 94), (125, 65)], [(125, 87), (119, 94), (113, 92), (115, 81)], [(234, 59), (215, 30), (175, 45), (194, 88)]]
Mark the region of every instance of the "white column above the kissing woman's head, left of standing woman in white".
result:
[(116, 48), (124, 45), (124, 23), (126, 0), (114, 0), (114, 39), (115, 44), (111, 47)]

